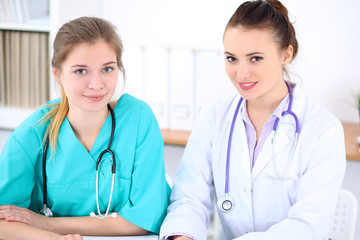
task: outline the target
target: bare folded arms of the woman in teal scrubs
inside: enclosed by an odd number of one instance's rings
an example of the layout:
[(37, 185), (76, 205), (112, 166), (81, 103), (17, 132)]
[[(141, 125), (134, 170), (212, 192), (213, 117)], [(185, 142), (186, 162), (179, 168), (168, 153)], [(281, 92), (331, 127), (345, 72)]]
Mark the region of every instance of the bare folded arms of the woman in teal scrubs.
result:
[[(38, 236), (36, 239), (60, 239), (60, 235), (144, 235), (147, 231), (124, 218), (57, 217), (49, 218), (26, 208), (0, 206), (0, 239)], [(15, 235), (11, 235), (15, 234)], [(18, 236), (17, 236), (18, 235)], [(20, 236), (21, 235), (21, 236)]]

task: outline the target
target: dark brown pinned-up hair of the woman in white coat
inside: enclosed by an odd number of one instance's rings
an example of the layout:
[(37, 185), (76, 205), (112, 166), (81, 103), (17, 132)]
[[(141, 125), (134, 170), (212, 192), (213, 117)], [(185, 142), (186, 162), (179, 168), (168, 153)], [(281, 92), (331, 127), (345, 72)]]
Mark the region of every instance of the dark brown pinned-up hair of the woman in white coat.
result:
[(230, 18), (226, 29), (237, 26), (271, 29), (279, 49), (285, 50), (292, 45), (293, 59), (296, 57), (299, 46), (295, 29), (289, 21), (288, 10), (280, 1), (256, 0), (242, 3)]

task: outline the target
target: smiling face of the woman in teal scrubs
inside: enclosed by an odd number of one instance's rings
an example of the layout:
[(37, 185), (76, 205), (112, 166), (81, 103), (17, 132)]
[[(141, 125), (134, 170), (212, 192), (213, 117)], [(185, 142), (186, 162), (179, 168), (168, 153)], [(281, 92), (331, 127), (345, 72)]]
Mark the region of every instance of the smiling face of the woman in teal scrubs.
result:
[(104, 110), (118, 82), (116, 54), (105, 41), (80, 43), (53, 75), (69, 100), (69, 111)]

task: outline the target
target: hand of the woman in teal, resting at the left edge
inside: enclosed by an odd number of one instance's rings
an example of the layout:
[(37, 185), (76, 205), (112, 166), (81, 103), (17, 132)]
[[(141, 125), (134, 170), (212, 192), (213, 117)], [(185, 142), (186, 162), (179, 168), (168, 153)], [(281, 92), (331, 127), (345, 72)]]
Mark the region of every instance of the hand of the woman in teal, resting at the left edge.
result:
[(0, 219), (5, 219), (8, 222), (22, 222), (44, 230), (49, 230), (51, 221), (50, 218), (35, 213), (27, 208), (12, 205), (0, 206)]

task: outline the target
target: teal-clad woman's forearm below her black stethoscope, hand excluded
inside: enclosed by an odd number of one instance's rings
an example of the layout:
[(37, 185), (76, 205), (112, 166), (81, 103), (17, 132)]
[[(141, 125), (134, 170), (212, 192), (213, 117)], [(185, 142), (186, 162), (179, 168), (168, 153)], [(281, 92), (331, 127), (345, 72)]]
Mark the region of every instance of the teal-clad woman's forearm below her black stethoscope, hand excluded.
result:
[(88, 236), (145, 235), (147, 231), (117, 216), (98, 219), (93, 217), (59, 217), (49, 219), (49, 229), (59, 234)]

